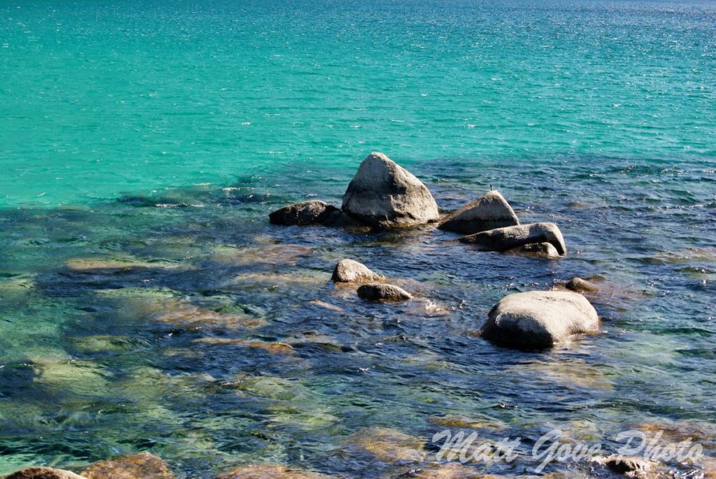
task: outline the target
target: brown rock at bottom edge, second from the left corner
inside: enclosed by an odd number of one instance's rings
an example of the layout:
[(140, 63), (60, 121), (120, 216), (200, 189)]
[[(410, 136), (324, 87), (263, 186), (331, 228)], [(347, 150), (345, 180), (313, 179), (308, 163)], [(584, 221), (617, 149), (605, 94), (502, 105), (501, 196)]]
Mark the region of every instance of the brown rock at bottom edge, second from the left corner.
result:
[(94, 463), (82, 473), (87, 479), (173, 479), (162, 458), (151, 453), (127, 455)]

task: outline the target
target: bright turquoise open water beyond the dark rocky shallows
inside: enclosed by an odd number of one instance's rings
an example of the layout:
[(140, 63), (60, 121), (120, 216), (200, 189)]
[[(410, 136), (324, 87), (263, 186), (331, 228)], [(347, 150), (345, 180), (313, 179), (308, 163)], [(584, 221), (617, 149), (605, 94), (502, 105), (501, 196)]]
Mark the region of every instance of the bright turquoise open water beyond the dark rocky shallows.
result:
[(713, 158), (712, 3), (0, 2), (0, 205), (397, 159)]

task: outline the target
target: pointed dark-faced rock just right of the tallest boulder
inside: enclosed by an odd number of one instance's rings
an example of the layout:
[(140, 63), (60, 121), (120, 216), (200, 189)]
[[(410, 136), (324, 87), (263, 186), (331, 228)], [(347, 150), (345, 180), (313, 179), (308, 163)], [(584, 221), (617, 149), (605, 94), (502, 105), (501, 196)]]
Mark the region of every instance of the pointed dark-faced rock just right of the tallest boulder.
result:
[(520, 221), (499, 191), (488, 191), (440, 222), (437, 228), (471, 235), (480, 231), (515, 226)]

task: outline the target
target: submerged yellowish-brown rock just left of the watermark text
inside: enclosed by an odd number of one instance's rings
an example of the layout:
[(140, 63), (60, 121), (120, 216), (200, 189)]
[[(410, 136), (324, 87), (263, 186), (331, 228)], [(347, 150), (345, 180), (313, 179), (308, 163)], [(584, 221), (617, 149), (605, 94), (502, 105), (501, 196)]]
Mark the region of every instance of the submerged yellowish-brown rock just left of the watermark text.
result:
[(352, 436), (352, 442), (384, 463), (420, 462), (427, 455), (425, 440), (389, 427), (367, 427)]

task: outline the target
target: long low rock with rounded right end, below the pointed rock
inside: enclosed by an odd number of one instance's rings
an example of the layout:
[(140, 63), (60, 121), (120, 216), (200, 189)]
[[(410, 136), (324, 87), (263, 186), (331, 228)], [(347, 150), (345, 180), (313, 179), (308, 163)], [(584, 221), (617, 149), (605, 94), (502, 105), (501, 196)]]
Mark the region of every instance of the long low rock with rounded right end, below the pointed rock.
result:
[(554, 223), (506, 226), (463, 236), (460, 241), (477, 245), (487, 251), (507, 251), (531, 243), (551, 243), (560, 255), (567, 253), (562, 232)]

